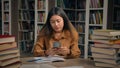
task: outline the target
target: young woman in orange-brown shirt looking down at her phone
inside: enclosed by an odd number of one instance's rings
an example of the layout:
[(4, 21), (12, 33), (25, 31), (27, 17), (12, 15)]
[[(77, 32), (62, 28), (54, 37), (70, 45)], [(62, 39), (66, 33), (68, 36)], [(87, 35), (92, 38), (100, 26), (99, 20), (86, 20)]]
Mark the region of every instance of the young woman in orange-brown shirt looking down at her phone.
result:
[[(49, 11), (46, 23), (39, 33), (34, 46), (34, 56), (59, 55), (64, 58), (77, 58), (81, 54), (78, 38), (78, 33), (65, 12), (54, 7)], [(54, 45), (60, 46), (54, 48)]]

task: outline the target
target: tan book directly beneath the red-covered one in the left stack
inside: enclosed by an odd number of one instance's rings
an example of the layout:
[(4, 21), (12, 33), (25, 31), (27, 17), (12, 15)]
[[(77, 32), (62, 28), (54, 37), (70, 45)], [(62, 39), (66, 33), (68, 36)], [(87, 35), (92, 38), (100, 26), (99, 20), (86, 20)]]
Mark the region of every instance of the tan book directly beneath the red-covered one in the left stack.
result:
[(10, 43), (6, 42), (4, 44), (0, 44), (0, 51), (14, 49), (14, 48), (17, 48), (17, 43), (16, 42), (10, 42)]

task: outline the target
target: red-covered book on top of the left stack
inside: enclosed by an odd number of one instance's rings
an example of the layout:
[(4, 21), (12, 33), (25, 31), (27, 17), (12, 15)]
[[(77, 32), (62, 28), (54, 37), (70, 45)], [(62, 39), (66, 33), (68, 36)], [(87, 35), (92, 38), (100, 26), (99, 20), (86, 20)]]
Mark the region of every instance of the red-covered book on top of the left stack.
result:
[(0, 35), (0, 44), (15, 42), (15, 36), (13, 35)]

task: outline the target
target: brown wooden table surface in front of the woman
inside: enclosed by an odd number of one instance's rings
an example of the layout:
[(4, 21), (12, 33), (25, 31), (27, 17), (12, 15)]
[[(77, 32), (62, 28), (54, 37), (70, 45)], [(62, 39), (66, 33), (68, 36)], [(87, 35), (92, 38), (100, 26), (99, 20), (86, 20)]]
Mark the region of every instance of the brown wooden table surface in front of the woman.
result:
[[(33, 57), (21, 58), (21, 62), (22, 62), (22, 64), (35, 63), (35, 62), (27, 62), (30, 59), (33, 59)], [(35, 63), (35, 64), (39, 64), (39, 63)], [(96, 67), (94, 65), (94, 61), (88, 60), (88, 59), (83, 59), (83, 58), (66, 59), (64, 62), (50, 62), (50, 63), (48, 62), (46, 64), (50, 64), (50, 65), (53, 65), (58, 68), (59, 67), (67, 67), (67, 66), (83, 66), (83, 68), (100, 68), (100, 67)], [(118, 68), (118, 66), (114, 67), (114, 68)]]

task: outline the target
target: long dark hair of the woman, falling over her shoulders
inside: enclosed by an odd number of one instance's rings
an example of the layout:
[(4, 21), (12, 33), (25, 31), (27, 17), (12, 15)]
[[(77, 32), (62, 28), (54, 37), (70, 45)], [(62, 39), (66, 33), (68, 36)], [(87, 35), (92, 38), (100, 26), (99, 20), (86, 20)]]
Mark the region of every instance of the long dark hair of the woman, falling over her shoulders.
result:
[(59, 8), (59, 7), (53, 7), (49, 11), (46, 23), (43, 26), (43, 28), (41, 29), (41, 32), (42, 32), (43, 35), (51, 37), (51, 35), (53, 33), (53, 29), (52, 29), (52, 27), (50, 25), (50, 18), (53, 15), (59, 15), (60, 17), (63, 18), (63, 20), (64, 20), (63, 30), (69, 30), (71, 34), (73, 34), (72, 31), (76, 31), (75, 28), (74, 28), (74, 26), (70, 22), (69, 18), (67, 17), (66, 13), (63, 11), (63, 9)]

